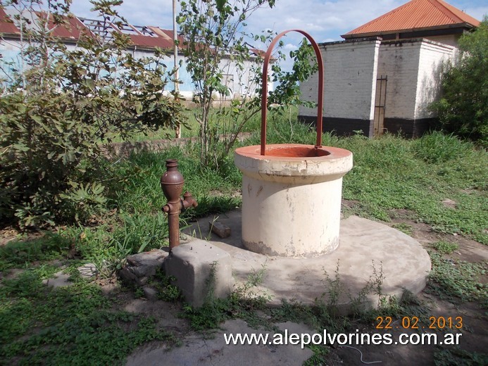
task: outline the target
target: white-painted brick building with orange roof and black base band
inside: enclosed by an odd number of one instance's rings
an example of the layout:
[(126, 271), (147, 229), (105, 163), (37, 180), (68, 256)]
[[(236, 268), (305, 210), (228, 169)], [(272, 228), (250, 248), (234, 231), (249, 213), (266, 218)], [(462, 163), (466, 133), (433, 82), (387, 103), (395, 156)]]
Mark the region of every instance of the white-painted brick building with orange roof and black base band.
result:
[[(454, 60), (458, 39), (478, 20), (442, 0), (412, 0), (342, 37), (320, 44), (324, 60), (323, 130), (373, 137), (402, 132), (417, 137), (434, 118), (442, 65)], [(301, 84), (302, 98), (317, 99), (317, 75)], [(299, 118), (316, 120), (313, 108)]]

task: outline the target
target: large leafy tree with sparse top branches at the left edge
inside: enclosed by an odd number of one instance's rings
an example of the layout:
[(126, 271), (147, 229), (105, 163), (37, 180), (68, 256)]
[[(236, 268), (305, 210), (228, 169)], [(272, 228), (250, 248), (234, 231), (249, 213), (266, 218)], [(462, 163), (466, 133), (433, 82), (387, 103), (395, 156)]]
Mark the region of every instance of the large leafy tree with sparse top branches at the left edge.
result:
[[(163, 95), (171, 75), (155, 58), (134, 59), (124, 34), (82, 32), (77, 48), (54, 37), (70, 0), (2, 1), (17, 9), (19, 61), (1, 65), (0, 220), (39, 227), (83, 220), (106, 201), (101, 142), (175, 125)], [(92, 0), (101, 23), (123, 22), (119, 0)], [(32, 12), (37, 17), (32, 17)]]

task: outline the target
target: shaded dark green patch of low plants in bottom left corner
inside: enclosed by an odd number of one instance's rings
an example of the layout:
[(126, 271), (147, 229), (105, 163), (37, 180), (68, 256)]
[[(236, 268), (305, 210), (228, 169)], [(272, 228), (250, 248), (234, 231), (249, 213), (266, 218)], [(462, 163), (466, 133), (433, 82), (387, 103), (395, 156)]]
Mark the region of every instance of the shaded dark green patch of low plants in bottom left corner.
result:
[(30, 268), (0, 286), (0, 358), (6, 365), (121, 365), (152, 340), (173, 344), (151, 317), (113, 310), (96, 284), (42, 284), (56, 267)]

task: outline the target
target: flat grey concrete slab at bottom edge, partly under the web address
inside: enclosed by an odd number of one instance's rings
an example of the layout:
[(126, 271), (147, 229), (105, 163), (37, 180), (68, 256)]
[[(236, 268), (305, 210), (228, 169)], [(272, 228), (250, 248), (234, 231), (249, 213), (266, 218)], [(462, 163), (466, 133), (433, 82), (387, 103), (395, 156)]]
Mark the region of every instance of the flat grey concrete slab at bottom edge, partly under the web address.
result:
[[(296, 329), (304, 329), (298, 324), (282, 323), (282, 329), (289, 333)], [(275, 332), (256, 330), (250, 328), (243, 320), (227, 320), (222, 326), (223, 330), (215, 334), (213, 339), (201, 339), (201, 335), (188, 336), (183, 345), (169, 351), (163, 347), (154, 349), (141, 349), (132, 354), (126, 366), (139, 365), (302, 365), (313, 352), (300, 345), (273, 345), (273, 344), (227, 344), (224, 334), (269, 334), (273, 339)]]

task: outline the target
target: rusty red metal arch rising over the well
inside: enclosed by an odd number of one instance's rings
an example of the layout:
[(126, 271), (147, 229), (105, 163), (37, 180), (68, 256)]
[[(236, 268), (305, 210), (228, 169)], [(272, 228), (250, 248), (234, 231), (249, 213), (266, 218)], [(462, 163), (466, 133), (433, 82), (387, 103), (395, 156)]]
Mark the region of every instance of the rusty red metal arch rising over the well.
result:
[(280, 40), (284, 34), (288, 32), (299, 32), (304, 34), (304, 36), (310, 41), (313, 46), (313, 50), (315, 51), (315, 56), (317, 57), (318, 63), (318, 111), (317, 111), (317, 141), (315, 142), (315, 147), (322, 147), (322, 108), (323, 108), (323, 99), (324, 99), (324, 64), (322, 62), (322, 54), (320, 53), (320, 49), (318, 48), (317, 42), (312, 38), (310, 34), (303, 30), (285, 30), (278, 34), (273, 42), (271, 42), (270, 46), (268, 47), (268, 51), (264, 56), (264, 64), (263, 64), (263, 95), (261, 96), (261, 155), (265, 155), (266, 150), (266, 115), (268, 113), (268, 65), (270, 63), (271, 53), (273, 53), (273, 49), (276, 43)]

